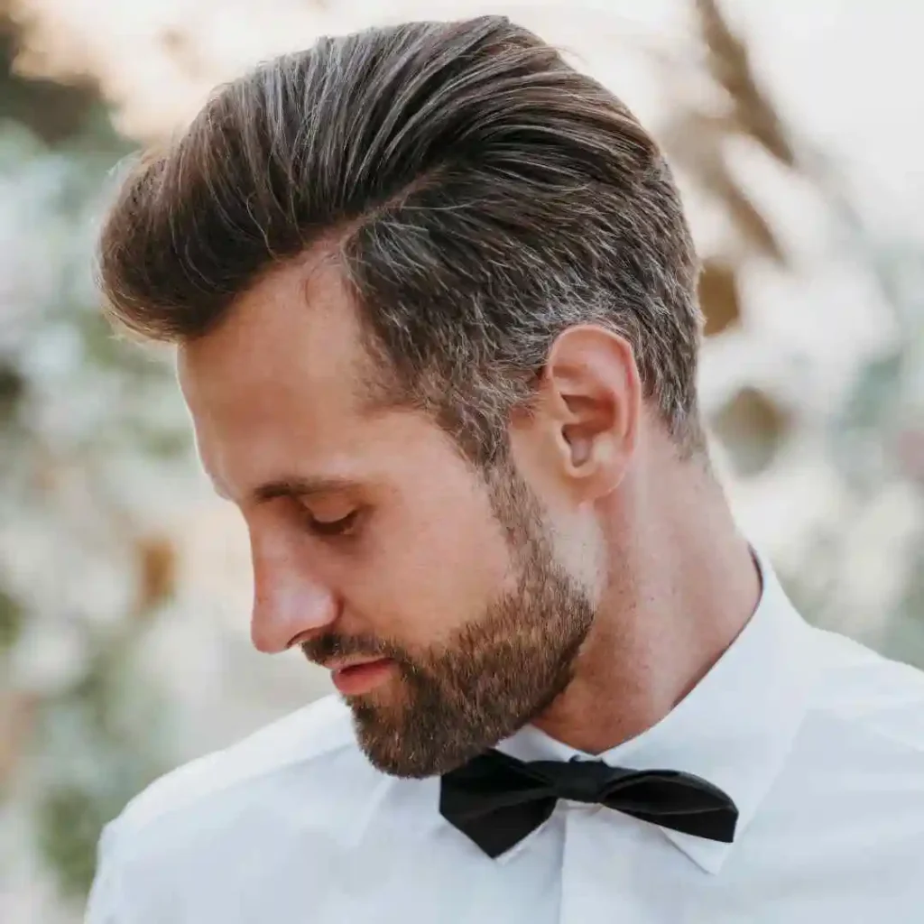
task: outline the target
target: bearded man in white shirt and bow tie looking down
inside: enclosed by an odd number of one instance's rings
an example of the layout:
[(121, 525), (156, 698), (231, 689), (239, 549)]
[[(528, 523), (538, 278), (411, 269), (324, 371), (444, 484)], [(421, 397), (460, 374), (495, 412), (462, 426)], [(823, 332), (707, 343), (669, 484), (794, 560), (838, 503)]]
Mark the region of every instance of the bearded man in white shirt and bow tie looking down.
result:
[(924, 920), (924, 682), (714, 480), (697, 261), (626, 107), (504, 18), (223, 87), (103, 229), (324, 699), (106, 829), (92, 924)]

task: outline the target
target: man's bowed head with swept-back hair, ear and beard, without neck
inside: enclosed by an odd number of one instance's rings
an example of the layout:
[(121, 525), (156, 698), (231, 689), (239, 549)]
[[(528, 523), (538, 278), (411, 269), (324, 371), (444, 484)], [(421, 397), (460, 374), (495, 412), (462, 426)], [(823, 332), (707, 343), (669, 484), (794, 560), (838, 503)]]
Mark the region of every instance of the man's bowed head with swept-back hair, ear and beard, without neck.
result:
[(388, 772), (547, 707), (639, 442), (702, 448), (696, 261), (625, 106), (504, 18), (322, 39), (143, 159), (100, 258), (116, 320), (178, 346), (257, 647), (391, 659), (347, 696)]

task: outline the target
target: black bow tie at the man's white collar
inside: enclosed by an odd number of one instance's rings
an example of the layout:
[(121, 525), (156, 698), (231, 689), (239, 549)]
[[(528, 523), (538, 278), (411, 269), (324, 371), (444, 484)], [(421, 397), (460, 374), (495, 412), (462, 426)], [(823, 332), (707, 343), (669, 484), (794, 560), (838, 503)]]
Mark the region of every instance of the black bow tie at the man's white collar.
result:
[(547, 821), (558, 799), (725, 844), (735, 837), (735, 803), (692, 773), (624, 770), (601, 760), (524, 763), (494, 750), (444, 773), (440, 813), (489, 857), (500, 857)]

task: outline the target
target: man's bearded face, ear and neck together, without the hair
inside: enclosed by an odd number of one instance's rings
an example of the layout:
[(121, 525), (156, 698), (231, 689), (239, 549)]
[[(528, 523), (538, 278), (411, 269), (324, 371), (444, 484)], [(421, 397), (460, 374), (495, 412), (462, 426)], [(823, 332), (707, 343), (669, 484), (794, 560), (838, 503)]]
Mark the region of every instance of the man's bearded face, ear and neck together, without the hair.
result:
[(529, 722), (611, 748), (756, 606), (708, 464), (678, 458), (602, 328), (559, 335), (490, 474), (422, 412), (363, 400), (370, 359), (326, 251), (265, 275), (177, 369), (203, 466), (249, 531), (254, 645), (394, 659), (346, 697), (385, 772), (444, 772)]

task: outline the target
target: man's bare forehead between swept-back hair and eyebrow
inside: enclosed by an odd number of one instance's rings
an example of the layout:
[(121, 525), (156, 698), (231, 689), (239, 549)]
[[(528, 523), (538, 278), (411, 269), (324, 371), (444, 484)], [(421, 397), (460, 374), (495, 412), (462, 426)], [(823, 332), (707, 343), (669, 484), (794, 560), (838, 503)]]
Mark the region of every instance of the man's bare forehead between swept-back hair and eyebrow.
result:
[(360, 340), (336, 274), (318, 271), (309, 285), (293, 263), (178, 348), (177, 379), (220, 495), (239, 501), (264, 483), (314, 474), (356, 443), (368, 420), (356, 398)]

